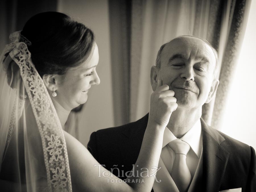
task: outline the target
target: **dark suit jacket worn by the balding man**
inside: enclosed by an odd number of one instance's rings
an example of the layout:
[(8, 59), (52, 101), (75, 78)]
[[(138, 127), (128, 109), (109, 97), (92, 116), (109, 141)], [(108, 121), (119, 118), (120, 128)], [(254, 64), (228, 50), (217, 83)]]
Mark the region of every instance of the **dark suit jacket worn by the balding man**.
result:
[[(121, 179), (132, 170), (141, 148), (148, 114), (138, 121), (93, 132), (88, 150), (94, 158)], [(201, 118), (203, 135), (202, 191), (222, 191), (242, 187), (256, 192), (255, 150), (216, 129)], [(114, 169), (114, 168), (119, 168)], [(153, 191), (153, 190), (152, 190)]]

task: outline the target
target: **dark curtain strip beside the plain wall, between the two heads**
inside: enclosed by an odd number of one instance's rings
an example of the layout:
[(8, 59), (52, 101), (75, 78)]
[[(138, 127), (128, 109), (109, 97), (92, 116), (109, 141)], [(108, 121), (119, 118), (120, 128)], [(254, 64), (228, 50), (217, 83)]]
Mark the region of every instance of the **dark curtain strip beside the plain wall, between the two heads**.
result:
[(131, 1), (109, 0), (115, 126), (129, 123)]

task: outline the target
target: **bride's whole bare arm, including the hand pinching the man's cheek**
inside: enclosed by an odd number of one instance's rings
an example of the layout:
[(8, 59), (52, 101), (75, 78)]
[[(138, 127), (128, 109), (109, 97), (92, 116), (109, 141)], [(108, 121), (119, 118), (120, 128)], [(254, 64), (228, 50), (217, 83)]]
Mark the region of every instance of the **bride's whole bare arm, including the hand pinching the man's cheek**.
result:
[[(173, 97), (174, 92), (169, 90), (169, 86), (160, 86), (160, 84), (158, 82), (157, 89), (150, 98), (148, 125), (134, 166), (135, 175), (137, 176), (138, 172), (139, 177), (129, 177), (135, 182), (109, 182), (111, 179), (119, 180), (119, 178), (110, 174), (103, 166), (98, 166), (99, 163), (90, 152), (74, 137), (64, 132), (73, 191), (151, 191), (162, 150), (164, 129), (172, 111), (177, 108), (176, 98)], [(143, 173), (144, 175), (141, 175)], [(149, 177), (146, 176), (147, 174)], [(105, 177), (108, 175), (110, 176)], [(143, 182), (136, 182), (136, 179)]]

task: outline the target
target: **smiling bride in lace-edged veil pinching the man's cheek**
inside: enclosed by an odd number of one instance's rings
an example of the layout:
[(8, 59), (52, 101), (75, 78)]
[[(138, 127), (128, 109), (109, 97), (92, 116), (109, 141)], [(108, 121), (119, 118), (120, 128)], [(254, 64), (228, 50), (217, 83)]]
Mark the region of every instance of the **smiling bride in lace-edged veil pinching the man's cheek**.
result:
[[(129, 179), (118, 179), (63, 131), (84, 104), (99, 55), (92, 31), (63, 13), (40, 13), (10, 35), (0, 64), (0, 185), (3, 191), (151, 191), (164, 128), (177, 104), (158, 82)], [(145, 170), (147, 170), (145, 172)]]

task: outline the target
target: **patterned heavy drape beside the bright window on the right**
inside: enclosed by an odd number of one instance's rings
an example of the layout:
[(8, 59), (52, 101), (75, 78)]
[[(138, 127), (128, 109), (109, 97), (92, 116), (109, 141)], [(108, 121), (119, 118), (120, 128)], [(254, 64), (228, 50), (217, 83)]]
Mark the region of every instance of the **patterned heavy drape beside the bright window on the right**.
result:
[[(224, 22), (224, 25), (226, 23), (228, 28), (226, 33), (224, 31), (220, 36), (220, 38), (224, 36), (226, 39), (225, 45), (219, 44), (219, 48), (224, 48), (223, 51), (219, 51), (219, 55), (222, 56), (219, 76), (220, 84), (216, 93), (214, 110), (213, 112), (208, 112), (212, 113), (212, 126), (218, 129), (222, 129), (225, 104), (228, 99), (228, 92), (232, 79), (234, 78), (249, 16), (251, 1), (232, 1), (230, 5), (230, 12), (229, 14), (226, 13), (226, 17), (228, 19)], [(207, 112), (207, 110), (205, 110), (205, 112)]]

